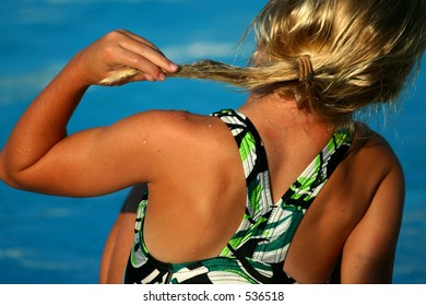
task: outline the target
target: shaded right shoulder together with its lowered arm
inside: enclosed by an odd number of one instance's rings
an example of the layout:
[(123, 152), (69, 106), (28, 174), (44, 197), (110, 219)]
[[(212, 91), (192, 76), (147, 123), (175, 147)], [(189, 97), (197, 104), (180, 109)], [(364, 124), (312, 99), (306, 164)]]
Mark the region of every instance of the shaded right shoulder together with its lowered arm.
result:
[(354, 151), (345, 161), (353, 197), (365, 203), (364, 214), (347, 237), (343, 251), (344, 282), (388, 283), (404, 205), (401, 164), (380, 134), (357, 125)]

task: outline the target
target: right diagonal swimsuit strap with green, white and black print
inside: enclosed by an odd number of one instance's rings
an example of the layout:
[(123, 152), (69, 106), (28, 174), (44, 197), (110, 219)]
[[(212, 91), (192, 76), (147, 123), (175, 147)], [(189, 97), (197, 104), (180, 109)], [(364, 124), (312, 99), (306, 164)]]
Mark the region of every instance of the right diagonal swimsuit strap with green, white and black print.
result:
[(352, 132), (341, 130), (288, 188), (272, 209), (268, 224), (259, 233), (263, 240), (257, 245), (253, 258), (264, 262), (284, 262), (292, 239), (307, 210), (324, 187), (353, 140)]

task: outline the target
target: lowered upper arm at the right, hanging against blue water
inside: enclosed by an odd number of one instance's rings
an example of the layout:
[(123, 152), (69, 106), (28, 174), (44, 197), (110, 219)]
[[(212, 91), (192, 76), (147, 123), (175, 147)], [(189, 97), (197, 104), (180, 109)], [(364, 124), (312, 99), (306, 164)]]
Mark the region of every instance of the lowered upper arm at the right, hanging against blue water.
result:
[(343, 248), (342, 283), (391, 283), (404, 203), (404, 177), (391, 150), (388, 170)]

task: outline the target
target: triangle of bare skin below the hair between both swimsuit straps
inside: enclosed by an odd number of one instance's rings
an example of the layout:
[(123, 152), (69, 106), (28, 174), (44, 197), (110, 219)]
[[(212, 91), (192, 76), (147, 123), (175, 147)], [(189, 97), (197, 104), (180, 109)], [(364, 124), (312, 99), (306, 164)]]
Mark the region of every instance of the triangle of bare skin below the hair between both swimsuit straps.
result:
[(276, 94), (251, 95), (240, 107), (258, 130), (276, 202), (334, 133), (334, 126)]

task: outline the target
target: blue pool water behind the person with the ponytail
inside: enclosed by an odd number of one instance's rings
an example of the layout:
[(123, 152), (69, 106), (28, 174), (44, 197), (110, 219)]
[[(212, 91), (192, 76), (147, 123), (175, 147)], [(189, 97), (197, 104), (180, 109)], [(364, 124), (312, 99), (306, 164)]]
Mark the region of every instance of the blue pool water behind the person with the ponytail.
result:
[[(252, 45), (239, 49), (237, 42), (265, 2), (2, 0), (0, 146), (43, 86), (73, 54), (105, 33), (130, 30), (177, 62), (211, 58), (245, 64)], [(423, 68), (415, 91), (398, 114), (386, 121), (382, 115), (370, 119), (394, 148), (406, 174), (395, 283), (426, 283), (425, 73)], [(245, 97), (201, 81), (93, 87), (70, 130), (108, 125), (151, 108), (209, 114), (237, 107)], [(127, 191), (70, 199), (19, 191), (0, 183), (0, 283), (96, 283), (102, 249)]]

